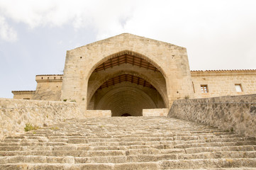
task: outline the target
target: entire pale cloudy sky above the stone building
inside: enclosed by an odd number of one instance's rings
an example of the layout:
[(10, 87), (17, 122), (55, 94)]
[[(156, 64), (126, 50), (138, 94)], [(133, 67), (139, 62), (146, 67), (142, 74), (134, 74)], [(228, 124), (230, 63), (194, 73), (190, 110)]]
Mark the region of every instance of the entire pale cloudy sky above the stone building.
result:
[(190, 69), (256, 69), (255, 0), (0, 0), (0, 97), (121, 33), (187, 47)]

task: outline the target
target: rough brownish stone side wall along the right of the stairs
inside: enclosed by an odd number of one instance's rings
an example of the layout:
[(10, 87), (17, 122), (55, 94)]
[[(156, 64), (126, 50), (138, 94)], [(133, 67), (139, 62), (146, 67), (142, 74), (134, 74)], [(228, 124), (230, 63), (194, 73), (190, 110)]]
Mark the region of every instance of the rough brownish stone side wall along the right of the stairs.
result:
[(256, 137), (256, 94), (174, 101), (168, 117)]

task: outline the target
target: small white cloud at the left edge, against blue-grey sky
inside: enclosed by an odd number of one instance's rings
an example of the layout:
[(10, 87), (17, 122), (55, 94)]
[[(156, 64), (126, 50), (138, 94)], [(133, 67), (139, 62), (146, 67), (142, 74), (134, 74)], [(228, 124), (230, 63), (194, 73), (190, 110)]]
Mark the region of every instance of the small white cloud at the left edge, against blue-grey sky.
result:
[(17, 40), (17, 33), (11, 26), (6, 23), (6, 20), (3, 16), (0, 16), (0, 37), (6, 41), (16, 41)]

